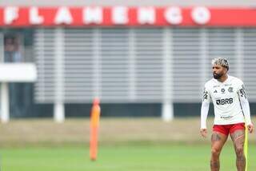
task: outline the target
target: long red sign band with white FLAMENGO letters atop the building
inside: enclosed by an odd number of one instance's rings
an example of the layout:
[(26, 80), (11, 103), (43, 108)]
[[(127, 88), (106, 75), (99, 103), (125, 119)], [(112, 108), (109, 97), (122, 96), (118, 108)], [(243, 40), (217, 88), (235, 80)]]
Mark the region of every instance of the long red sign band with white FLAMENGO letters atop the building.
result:
[(256, 8), (0, 7), (0, 26), (256, 26)]

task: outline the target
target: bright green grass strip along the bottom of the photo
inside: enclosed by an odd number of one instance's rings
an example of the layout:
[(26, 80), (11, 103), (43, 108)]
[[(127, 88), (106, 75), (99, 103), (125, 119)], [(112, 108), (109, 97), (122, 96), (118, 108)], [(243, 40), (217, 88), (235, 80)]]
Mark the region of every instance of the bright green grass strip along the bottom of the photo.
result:
[[(249, 171), (256, 170), (255, 146), (250, 145)], [(86, 145), (1, 149), (1, 171), (206, 171), (209, 145), (103, 145), (90, 161)], [(221, 170), (234, 171), (232, 145), (222, 151)]]

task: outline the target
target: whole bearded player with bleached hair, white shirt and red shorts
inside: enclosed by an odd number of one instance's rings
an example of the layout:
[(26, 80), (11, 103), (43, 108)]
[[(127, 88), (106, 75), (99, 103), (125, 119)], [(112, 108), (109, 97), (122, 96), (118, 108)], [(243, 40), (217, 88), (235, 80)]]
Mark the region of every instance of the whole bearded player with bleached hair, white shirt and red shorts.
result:
[(220, 169), (219, 155), (226, 139), (230, 135), (234, 142), (236, 165), (238, 171), (246, 168), (246, 157), (243, 150), (245, 126), (253, 133), (254, 125), (250, 120), (250, 106), (243, 82), (227, 74), (229, 63), (225, 58), (214, 58), (212, 61), (213, 76), (206, 82), (202, 97), (201, 130), (206, 137), (206, 118), (210, 100), (214, 104), (214, 126), (211, 136), (211, 171)]

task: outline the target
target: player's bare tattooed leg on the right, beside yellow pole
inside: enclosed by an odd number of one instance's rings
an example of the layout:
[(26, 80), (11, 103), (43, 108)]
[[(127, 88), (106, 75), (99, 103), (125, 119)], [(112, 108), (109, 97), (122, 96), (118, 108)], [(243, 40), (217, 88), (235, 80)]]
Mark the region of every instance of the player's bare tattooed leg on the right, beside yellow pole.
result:
[(246, 157), (243, 151), (243, 145), (245, 143), (245, 131), (238, 129), (234, 131), (234, 133), (231, 133), (230, 137), (234, 142), (234, 149), (237, 155), (237, 169), (238, 171), (244, 171), (246, 169)]

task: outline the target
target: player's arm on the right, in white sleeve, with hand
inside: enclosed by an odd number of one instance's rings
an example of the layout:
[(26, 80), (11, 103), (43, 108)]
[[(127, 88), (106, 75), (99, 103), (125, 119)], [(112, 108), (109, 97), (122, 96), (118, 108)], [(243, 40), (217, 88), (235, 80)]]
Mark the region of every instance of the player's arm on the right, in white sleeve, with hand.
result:
[(254, 132), (254, 125), (250, 119), (250, 105), (246, 94), (245, 86), (242, 84), (238, 89), (238, 97), (240, 99), (242, 111), (246, 120), (246, 126), (250, 133)]

